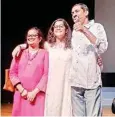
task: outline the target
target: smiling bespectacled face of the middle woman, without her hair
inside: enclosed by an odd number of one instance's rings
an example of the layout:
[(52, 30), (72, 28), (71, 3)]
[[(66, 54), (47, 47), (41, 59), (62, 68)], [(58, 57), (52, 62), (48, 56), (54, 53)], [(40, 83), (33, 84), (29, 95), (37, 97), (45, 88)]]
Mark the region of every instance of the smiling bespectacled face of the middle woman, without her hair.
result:
[(66, 34), (66, 27), (63, 21), (56, 21), (54, 24), (54, 35), (57, 39), (63, 40)]

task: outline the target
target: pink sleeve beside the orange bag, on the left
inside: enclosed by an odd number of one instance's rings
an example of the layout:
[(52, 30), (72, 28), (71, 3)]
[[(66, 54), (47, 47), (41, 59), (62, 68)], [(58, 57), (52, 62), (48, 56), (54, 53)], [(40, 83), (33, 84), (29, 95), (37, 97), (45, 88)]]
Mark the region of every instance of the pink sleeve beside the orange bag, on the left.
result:
[(11, 62), (9, 76), (14, 86), (17, 83), (20, 83), (20, 80), (18, 78), (18, 60), (16, 58), (13, 58)]

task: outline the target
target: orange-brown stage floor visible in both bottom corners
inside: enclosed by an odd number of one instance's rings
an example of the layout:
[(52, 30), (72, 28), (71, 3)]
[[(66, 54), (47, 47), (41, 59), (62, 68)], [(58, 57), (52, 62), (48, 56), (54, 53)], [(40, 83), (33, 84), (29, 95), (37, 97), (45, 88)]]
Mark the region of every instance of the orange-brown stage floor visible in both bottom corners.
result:
[[(1, 104), (1, 116), (11, 116), (12, 104)], [(103, 107), (103, 116), (115, 116), (110, 107)]]

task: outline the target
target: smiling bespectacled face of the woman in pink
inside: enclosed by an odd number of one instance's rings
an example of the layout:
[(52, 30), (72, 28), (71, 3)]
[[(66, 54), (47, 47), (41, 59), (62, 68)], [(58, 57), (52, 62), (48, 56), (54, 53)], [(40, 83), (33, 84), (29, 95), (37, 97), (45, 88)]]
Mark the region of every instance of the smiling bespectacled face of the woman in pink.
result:
[(38, 31), (35, 29), (30, 29), (27, 33), (27, 43), (29, 46), (38, 46), (41, 41)]

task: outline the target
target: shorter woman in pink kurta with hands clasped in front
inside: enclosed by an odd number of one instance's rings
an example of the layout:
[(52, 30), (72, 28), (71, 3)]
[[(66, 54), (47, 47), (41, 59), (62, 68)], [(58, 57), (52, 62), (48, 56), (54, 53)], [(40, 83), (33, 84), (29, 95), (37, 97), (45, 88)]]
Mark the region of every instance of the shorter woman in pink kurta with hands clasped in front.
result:
[(10, 67), (16, 88), (12, 116), (43, 116), (49, 56), (40, 47), (43, 34), (37, 27), (28, 30), (26, 39), (28, 48), (20, 58), (13, 58)]

